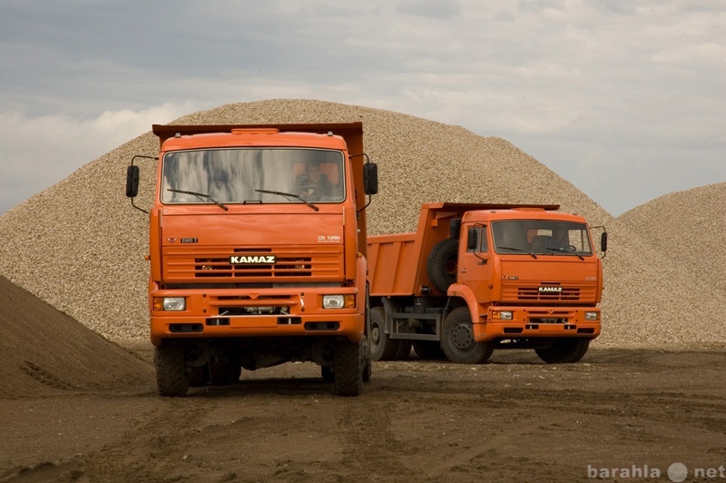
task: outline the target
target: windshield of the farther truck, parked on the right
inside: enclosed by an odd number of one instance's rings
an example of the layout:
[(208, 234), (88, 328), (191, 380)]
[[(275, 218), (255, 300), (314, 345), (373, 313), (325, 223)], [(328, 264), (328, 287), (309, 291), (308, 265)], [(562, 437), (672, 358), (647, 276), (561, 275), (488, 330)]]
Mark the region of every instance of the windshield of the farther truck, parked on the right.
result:
[(546, 220), (513, 220), (492, 223), (497, 253), (592, 255), (587, 225)]

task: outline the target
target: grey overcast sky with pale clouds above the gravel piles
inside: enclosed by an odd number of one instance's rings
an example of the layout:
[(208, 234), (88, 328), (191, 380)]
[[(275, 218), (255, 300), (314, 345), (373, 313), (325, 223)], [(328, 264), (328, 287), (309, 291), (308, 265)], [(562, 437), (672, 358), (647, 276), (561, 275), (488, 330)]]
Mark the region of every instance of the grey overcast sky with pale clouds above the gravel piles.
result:
[(280, 98), (504, 137), (615, 216), (726, 182), (722, 0), (0, 0), (0, 61), (0, 213), (152, 123)]

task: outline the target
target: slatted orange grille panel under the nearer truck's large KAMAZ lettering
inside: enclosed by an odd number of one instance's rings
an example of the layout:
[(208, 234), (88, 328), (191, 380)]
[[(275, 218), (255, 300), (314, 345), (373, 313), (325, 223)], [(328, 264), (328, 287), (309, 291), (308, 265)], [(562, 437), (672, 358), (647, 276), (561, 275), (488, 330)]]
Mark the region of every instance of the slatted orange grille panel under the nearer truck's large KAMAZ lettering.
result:
[[(232, 256), (274, 255), (274, 263), (231, 263)], [(164, 250), (165, 281), (293, 281), (304, 278), (339, 279), (342, 247), (324, 249), (245, 248)]]

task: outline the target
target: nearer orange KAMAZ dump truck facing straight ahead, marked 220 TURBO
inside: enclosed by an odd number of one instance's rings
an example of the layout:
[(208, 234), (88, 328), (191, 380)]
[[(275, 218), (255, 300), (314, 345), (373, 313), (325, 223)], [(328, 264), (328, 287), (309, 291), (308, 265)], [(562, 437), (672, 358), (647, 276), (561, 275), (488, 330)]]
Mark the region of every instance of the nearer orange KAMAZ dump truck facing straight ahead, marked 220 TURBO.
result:
[(362, 124), (152, 130), (161, 150), (142, 211), (160, 394), (313, 361), (336, 393), (358, 395), (371, 370), (366, 195), (378, 191)]

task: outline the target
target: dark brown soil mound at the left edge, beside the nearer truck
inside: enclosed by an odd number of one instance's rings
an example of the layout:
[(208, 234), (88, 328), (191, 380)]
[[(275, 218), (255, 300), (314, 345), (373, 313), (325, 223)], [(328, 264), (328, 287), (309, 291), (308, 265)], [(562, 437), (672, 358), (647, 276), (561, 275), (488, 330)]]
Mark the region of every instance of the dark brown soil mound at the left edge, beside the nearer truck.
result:
[(152, 367), (0, 277), (0, 395), (128, 390), (149, 386)]

